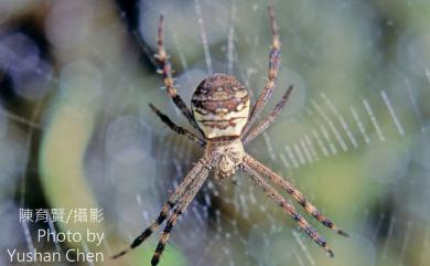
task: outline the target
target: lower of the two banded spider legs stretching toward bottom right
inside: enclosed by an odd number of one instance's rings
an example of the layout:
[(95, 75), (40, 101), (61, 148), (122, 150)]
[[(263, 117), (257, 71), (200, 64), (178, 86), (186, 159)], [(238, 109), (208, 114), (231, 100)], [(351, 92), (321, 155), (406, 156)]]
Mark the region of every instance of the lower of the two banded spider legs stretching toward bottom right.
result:
[(278, 205), (280, 205), (288, 214), (292, 216), (292, 219), (299, 224), (299, 226), (307, 232), (307, 234), (321, 247), (325, 249), (325, 252), (330, 255), (330, 257), (333, 257), (334, 254), (332, 249), (327, 246), (325, 240), (310, 225), (307, 220), (304, 220), (300, 213), (295, 211), (295, 208), (291, 204), (289, 204), (286, 199), (273, 188), (271, 188), (267, 181), (256, 171), (254, 170), (248, 163), (241, 164), (243, 169), (249, 173), (252, 181), (262, 188), (265, 193), (273, 200)]

